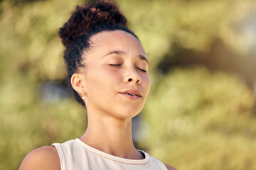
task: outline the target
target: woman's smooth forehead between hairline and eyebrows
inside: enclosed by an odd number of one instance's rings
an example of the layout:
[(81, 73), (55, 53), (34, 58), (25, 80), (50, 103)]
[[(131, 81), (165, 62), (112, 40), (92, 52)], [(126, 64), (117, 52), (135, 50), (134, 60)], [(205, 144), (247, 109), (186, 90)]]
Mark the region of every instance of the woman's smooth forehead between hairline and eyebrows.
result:
[(140, 55), (146, 55), (142, 44), (134, 35), (123, 30), (102, 31), (90, 38), (92, 51), (100, 50), (123, 50), (126, 52), (137, 52)]

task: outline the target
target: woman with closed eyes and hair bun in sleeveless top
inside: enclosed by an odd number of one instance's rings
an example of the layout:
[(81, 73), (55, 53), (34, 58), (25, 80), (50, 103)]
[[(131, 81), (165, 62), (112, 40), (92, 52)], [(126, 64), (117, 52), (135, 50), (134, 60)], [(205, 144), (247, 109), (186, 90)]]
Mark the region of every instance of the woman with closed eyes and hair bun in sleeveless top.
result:
[(82, 137), (33, 150), (20, 169), (173, 169), (132, 142), (132, 118), (149, 94), (149, 63), (110, 1), (77, 6), (59, 35), (70, 89), (87, 108)]

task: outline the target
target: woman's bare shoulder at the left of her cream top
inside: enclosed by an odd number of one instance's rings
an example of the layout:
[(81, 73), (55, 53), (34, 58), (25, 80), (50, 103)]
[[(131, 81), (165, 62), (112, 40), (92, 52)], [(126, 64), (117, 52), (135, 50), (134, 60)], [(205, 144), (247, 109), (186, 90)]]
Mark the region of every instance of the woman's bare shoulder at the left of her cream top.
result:
[(58, 169), (60, 170), (60, 159), (55, 147), (39, 147), (31, 151), (21, 163), (19, 170), (30, 169)]

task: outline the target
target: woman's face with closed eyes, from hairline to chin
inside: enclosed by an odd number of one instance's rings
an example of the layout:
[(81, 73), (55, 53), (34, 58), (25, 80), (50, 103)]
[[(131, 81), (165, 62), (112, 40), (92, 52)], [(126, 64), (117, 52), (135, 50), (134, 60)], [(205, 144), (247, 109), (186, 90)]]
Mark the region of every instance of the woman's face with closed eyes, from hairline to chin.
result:
[(141, 43), (122, 30), (97, 33), (90, 43), (82, 70), (88, 114), (134, 117), (142, 111), (151, 85)]

